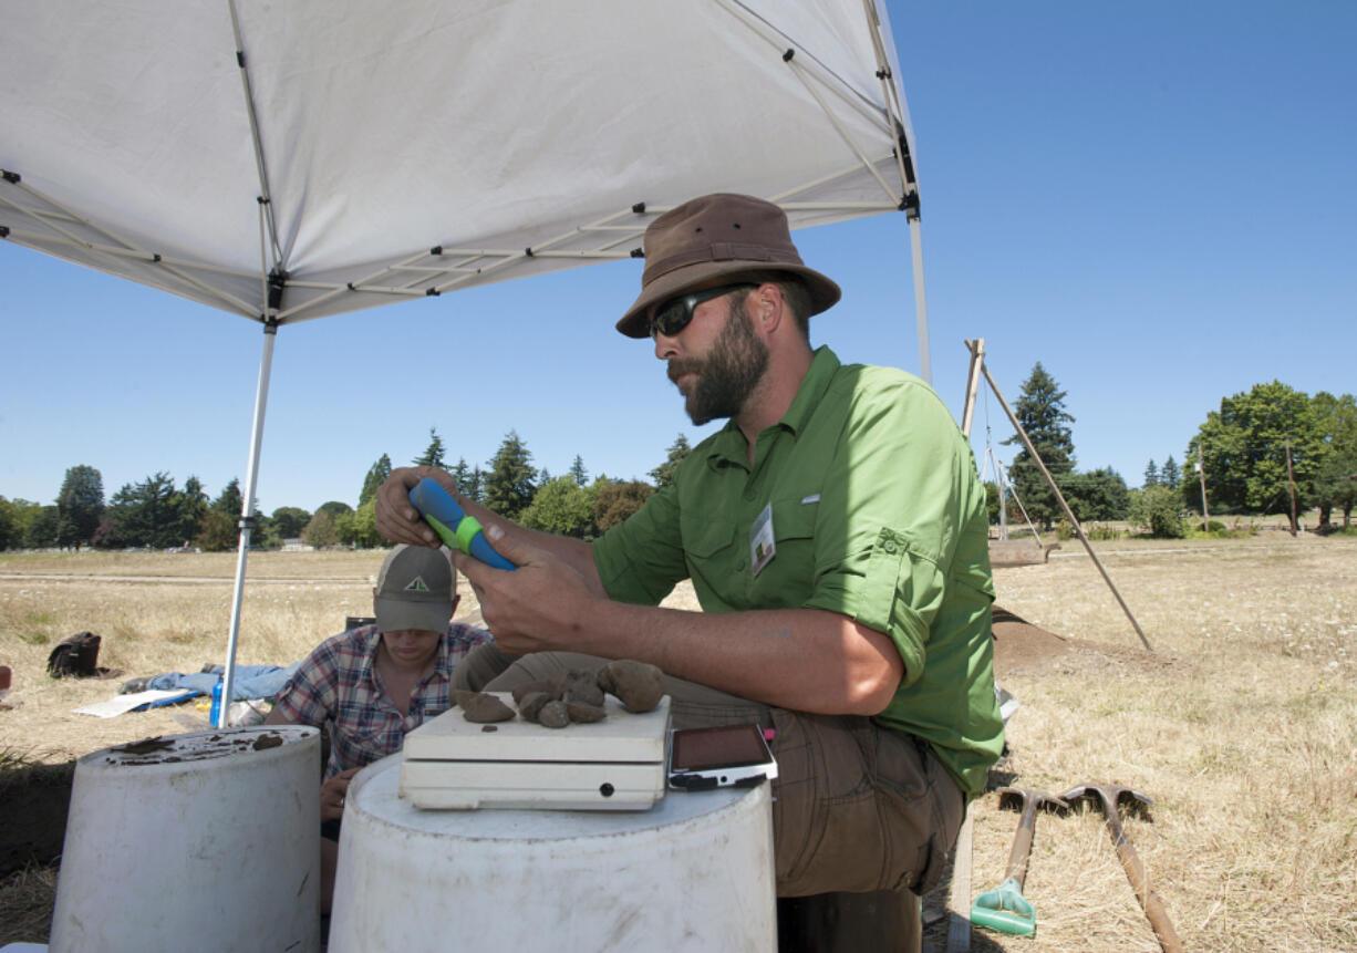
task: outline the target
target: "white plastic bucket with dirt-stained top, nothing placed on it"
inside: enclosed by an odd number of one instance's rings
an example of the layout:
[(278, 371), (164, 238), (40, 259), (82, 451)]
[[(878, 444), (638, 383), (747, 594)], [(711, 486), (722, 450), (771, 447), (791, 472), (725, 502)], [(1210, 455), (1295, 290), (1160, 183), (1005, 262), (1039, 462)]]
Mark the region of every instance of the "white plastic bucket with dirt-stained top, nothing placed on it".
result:
[(313, 728), (194, 732), (85, 755), (50, 949), (318, 950), (319, 787)]

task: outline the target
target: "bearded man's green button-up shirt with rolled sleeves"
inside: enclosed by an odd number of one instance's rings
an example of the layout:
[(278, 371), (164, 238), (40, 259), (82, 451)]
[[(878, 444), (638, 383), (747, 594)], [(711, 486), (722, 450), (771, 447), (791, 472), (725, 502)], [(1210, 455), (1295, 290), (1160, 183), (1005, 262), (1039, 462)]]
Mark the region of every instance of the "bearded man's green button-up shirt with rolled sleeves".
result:
[[(756, 573), (764, 510), (773, 555)], [(968, 794), (1003, 749), (985, 493), (947, 407), (913, 375), (816, 352), (749, 466), (734, 424), (593, 544), (613, 599), (692, 578), (707, 612), (818, 608), (890, 637), (905, 675), (877, 722), (927, 740)]]

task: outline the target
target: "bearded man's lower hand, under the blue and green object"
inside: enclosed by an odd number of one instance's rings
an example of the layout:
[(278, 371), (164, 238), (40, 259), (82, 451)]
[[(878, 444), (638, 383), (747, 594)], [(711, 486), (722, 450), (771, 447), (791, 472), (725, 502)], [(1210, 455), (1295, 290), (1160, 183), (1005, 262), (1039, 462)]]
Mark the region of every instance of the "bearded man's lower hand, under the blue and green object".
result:
[(494, 523), (484, 527), (484, 534), (517, 566), (514, 572), (491, 569), (457, 551), (452, 561), (471, 582), (495, 645), (510, 654), (550, 650), (604, 654), (600, 646), (581, 641), (590, 635), (585, 620), (597, 599), (589, 580), (520, 534), (506, 534)]

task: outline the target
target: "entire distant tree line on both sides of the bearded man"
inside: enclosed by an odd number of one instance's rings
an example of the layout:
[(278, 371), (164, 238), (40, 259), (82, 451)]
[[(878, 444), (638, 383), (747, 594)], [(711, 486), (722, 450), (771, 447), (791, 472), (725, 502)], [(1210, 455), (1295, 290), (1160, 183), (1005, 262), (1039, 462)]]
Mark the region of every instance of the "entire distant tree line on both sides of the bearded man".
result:
[[(1320, 391), (1310, 396), (1272, 381), (1223, 398), (1219, 410), (1189, 441), (1183, 463), (1172, 453), (1151, 459), (1143, 486), (1129, 489), (1111, 467), (1080, 471), (1065, 409), (1067, 394), (1038, 361), (1022, 386), (1014, 415), (1022, 424), (1061, 496), (1080, 523), (1129, 520), (1151, 535), (1183, 535), (1185, 515), (1292, 515), (1319, 509), (1319, 528), (1352, 524), (1357, 504), (1357, 402), (1353, 395)], [(1018, 444), (1014, 434), (1004, 444)], [(678, 434), (666, 459), (649, 472), (653, 482), (617, 481), (598, 474), (590, 479), (577, 455), (570, 470), (554, 476), (537, 470), (516, 430), (505, 434), (484, 466), (465, 457), (451, 464), (437, 429), (430, 428), (417, 466), (448, 470), (472, 500), (533, 529), (592, 539), (636, 512), (655, 489), (673, 481), (673, 471), (691, 447)], [(376, 527), (377, 487), (391, 474), (383, 453), (368, 470), (358, 506), (341, 501), (322, 504), (313, 513), (280, 506), (258, 513), (251, 542), (266, 548), (300, 538), (316, 547), (384, 546)], [(1063, 516), (1060, 504), (1026, 447), (1007, 468), (1008, 519), (1031, 520), (1046, 529)], [(997, 521), (1000, 491), (987, 483), (991, 521)], [(216, 498), (190, 476), (183, 486), (164, 472), (125, 483), (107, 501), (99, 471), (71, 467), (54, 504), (42, 505), (0, 496), (0, 550), (14, 548), (183, 548), (229, 550), (237, 544), (242, 493), (232, 479)], [(258, 506), (256, 506), (258, 510)], [(1292, 527), (1296, 528), (1295, 525)]]

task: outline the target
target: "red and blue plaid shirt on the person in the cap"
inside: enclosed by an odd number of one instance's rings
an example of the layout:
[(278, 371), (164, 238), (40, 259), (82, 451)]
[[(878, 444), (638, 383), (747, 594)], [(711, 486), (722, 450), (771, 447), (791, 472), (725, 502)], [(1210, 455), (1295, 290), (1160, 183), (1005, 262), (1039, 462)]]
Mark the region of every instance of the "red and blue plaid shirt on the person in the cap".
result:
[(330, 734), (326, 778), (395, 753), (406, 732), (449, 707), (452, 669), (471, 649), (491, 635), (459, 622), (448, 623), (438, 639), (433, 672), (410, 695), (410, 714), (402, 715), (377, 680), (381, 633), (361, 626), (322, 642), (278, 692), (274, 703), (299, 725), (323, 728)]

